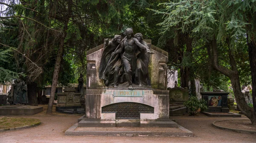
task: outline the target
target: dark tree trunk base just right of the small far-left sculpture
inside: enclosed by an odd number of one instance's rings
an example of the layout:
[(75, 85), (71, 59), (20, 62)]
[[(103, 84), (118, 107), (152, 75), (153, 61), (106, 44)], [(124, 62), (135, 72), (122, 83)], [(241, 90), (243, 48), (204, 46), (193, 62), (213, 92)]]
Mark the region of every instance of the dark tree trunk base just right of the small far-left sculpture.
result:
[(28, 99), (29, 103), (28, 105), (31, 106), (38, 106), (37, 102), (37, 84), (35, 82), (30, 82), (27, 84), (28, 87)]

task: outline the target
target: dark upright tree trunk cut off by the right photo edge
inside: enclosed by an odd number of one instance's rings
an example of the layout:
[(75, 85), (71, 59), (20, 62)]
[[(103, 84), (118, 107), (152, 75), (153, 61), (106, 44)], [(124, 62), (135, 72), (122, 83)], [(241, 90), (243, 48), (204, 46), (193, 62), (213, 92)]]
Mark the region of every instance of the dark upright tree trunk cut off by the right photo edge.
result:
[(256, 125), (256, 41), (253, 39), (249, 41), (247, 35), (247, 45), (250, 60), (250, 70), (252, 77), (252, 95), (253, 95), (253, 109), (251, 109), (252, 118), (250, 121)]

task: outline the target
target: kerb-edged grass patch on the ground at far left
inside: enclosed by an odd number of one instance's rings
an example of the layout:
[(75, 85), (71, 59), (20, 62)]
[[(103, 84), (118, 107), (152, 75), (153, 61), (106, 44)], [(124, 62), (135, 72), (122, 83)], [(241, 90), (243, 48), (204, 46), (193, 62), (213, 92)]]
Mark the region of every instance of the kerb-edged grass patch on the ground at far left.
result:
[(2, 117), (0, 118), (0, 129), (10, 129), (19, 126), (26, 126), (26, 125), (38, 125), (40, 124), (40, 120), (33, 119), (33, 118), (9, 118), (9, 117)]

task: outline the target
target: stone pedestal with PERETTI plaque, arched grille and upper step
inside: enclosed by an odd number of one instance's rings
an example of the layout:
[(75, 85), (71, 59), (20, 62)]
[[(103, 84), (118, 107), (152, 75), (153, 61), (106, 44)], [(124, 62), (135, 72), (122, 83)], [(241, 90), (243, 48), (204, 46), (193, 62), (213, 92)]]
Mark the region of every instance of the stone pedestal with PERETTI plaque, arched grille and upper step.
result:
[(87, 90), (86, 117), (78, 126), (175, 127), (168, 90)]

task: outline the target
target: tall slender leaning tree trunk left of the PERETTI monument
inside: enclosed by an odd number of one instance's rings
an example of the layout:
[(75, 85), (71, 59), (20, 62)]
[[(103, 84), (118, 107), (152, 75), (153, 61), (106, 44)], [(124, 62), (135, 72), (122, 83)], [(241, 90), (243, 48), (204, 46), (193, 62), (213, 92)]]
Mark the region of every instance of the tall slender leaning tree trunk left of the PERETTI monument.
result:
[(64, 20), (63, 36), (61, 37), (61, 40), (60, 40), (60, 45), (59, 45), (58, 54), (57, 54), (55, 67), (54, 67), (54, 72), (53, 72), (53, 77), (52, 77), (52, 88), (51, 88), (51, 94), (50, 94), (48, 108), (47, 108), (47, 112), (46, 112), (47, 114), (52, 113), (54, 95), (55, 95), (55, 90), (57, 87), (58, 74), (59, 74), (59, 70), (61, 67), (61, 59), (62, 59), (63, 50), (64, 50), (64, 40), (67, 36), (67, 25), (68, 25), (68, 21), (69, 21), (70, 14), (71, 14), (71, 6), (72, 6), (72, 0), (69, 0), (68, 6), (67, 6), (67, 16), (65, 17), (65, 20)]

